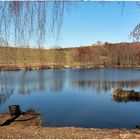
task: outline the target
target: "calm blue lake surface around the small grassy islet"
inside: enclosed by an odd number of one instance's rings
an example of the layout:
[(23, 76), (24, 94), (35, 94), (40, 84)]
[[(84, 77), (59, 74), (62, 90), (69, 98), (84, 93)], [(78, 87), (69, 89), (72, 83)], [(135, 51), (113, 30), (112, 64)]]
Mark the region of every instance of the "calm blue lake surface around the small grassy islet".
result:
[(135, 128), (140, 101), (120, 101), (113, 88), (140, 91), (140, 70), (96, 68), (0, 72), (0, 112), (35, 108), (49, 127)]

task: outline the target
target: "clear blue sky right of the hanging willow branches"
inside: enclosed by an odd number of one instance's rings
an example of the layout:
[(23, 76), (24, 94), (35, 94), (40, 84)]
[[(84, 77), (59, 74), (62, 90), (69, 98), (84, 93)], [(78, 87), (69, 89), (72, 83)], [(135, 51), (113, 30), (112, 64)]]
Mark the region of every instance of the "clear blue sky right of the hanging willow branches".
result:
[[(130, 42), (128, 34), (140, 23), (140, 7), (136, 2), (125, 2), (124, 9), (118, 2), (74, 2), (65, 13), (59, 45), (79, 47), (102, 42)], [(55, 45), (48, 38), (48, 47)]]

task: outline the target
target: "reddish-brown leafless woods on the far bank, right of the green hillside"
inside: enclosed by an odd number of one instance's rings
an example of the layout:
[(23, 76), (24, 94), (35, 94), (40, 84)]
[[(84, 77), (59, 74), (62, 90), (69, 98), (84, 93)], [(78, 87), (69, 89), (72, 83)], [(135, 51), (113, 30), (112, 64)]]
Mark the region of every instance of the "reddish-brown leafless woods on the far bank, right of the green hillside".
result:
[(140, 65), (140, 43), (104, 43), (77, 48), (75, 58), (83, 66), (133, 67)]

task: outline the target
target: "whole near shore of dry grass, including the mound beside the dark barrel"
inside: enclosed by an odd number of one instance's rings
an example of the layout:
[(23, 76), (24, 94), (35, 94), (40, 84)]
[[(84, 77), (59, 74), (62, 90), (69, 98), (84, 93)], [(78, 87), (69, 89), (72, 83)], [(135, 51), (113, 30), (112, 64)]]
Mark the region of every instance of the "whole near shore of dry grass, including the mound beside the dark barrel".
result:
[[(10, 125), (1, 126), (0, 139), (140, 139), (140, 129), (44, 127), (42, 118), (33, 116), (23, 115)], [(1, 121), (10, 118), (0, 117)]]

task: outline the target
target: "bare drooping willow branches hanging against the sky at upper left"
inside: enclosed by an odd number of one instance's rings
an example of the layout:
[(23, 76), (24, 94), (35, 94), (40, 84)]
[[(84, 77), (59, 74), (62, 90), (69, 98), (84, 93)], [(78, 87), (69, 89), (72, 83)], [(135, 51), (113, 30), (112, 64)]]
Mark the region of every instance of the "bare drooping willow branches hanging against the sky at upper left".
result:
[(59, 35), (67, 6), (64, 1), (1, 1), (0, 44), (42, 47), (48, 28)]

